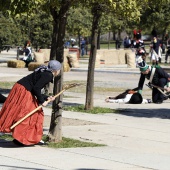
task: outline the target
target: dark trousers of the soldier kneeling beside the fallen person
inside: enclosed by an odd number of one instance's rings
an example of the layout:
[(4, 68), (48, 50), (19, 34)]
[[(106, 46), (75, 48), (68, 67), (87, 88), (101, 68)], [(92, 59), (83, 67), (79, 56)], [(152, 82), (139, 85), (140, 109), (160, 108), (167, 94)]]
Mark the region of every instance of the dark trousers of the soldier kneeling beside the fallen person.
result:
[[(165, 78), (161, 78), (159, 79), (159, 83), (157, 84), (157, 86), (164, 88), (166, 84), (167, 84), (167, 80)], [(163, 100), (164, 100), (164, 95), (157, 88), (153, 88), (152, 89), (153, 103), (163, 102)]]

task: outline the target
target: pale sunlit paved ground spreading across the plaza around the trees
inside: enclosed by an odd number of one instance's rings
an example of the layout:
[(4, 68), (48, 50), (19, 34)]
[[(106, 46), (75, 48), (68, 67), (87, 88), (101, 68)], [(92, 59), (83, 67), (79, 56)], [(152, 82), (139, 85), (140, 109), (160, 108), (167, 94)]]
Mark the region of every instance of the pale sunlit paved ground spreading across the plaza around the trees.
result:
[[(85, 68), (81, 69), (82, 72), (65, 73), (64, 81), (85, 81), (87, 72)], [(25, 68), (22, 72), (19, 69), (8, 68), (4, 76), (4, 70), (6, 67), (1, 66), (1, 81), (5, 77), (8, 77), (6, 80), (11, 78), (14, 80), (14, 77), (17, 80), (30, 73)], [(104, 85), (110, 87), (114, 81), (120, 80), (120, 84), (125, 85), (128, 78), (130, 80), (126, 83), (126, 87), (136, 84), (137, 70), (128, 71), (128, 74), (114, 73), (114, 71), (112, 69), (110, 72), (95, 73), (96, 84), (101, 86), (104, 80)], [(85, 103), (85, 93), (77, 93), (75, 90), (66, 91), (64, 94), (70, 96), (64, 98), (64, 104)], [(170, 100), (161, 105), (153, 103), (130, 105), (105, 103), (104, 97), (104, 92), (96, 94), (94, 105), (119, 109), (121, 112), (93, 115), (63, 111), (63, 119), (82, 120), (84, 125), (64, 125), (62, 133), (64, 137), (106, 144), (106, 146), (51, 149), (42, 146), (16, 147), (12, 142), (0, 140), (0, 169), (169, 170)], [(44, 108), (44, 113), (46, 117), (44, 133), (47, 133), (49, 127), (47, 118), (51, 115), (51, 109)]]

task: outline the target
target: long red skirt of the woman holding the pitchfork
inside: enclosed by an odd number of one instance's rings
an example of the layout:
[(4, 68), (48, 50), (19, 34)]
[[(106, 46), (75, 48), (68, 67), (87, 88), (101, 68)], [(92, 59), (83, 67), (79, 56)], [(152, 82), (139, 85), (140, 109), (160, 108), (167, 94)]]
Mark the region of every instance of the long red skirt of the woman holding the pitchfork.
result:
[(36, 98), (22, 85), (16, 83), (0, 111), (0, 132), (12, 136), (24, 145), (40, 142), (43, 135), (43, 110), (39, 109), (14, 129), (10, 127), (38, 107)]

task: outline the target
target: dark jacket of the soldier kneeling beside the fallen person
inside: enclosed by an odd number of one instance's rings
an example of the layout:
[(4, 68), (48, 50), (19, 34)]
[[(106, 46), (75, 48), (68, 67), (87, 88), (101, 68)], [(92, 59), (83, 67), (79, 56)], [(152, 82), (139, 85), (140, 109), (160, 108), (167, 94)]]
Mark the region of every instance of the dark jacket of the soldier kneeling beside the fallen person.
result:
[[(148, 74), (146, 74), (146, 75), (141, 73), (140, 79), (139, 79), (139, 83), (138, 83), (138, 90), (142, 90), (143, 89), (145, 78), (148, 79), (148, 80), (150, 79), (152, 69), (153, 68), (151, 67), (151, 71)], [(161, 67), (160, 68), (156, 68), (151, 83), (154, 84), (154, 85), (158, 85), (159, 80), (161, 78), (165, 78), (167, 80), (167, 83), (170, 82), (170, 78), (169, 78), (168, 73), (166, 73)]]

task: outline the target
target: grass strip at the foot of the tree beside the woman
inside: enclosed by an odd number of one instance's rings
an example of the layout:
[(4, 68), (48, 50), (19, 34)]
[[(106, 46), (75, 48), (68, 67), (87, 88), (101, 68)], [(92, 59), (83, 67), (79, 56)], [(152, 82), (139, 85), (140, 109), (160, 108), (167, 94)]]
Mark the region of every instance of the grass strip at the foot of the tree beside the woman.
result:
[[(106, 146), (104, 144), (97, 144), (93, 142), (83, 142), (83, 141), (79, 141), (79, 140), (75, 140), (71, 138), (65, 138), (65, 137), (63, 137), (62, 141), (58, 143), (52, 143), (52, 142), (48, 142), (47, 135), (43, 135), (42, 139), (47, 143), (47, 145), (43, 145), (43, 146), (50, 147), (50, 148), (76, 148), (76, 147)], [(13, 137), (10, 134), (4, 134), (0, 136), (0, 140), (12, 141)]]

